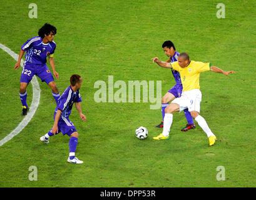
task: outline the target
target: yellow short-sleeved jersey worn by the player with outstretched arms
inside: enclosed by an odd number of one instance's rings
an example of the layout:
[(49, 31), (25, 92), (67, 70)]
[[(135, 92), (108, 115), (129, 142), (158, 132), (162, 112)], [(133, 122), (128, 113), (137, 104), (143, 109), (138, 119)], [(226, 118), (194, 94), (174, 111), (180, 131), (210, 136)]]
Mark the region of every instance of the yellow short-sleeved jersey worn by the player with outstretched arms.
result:
[(186, 68), (182, 68), (177, 62), (173, 62), (172, 68), (180, 73), (182, 79), (183, 91), (190, 91), (192, 89), (200, 89), (199, 78), (203, 71), (210, 71), (210, 63), (202, 63), (197, 61), (190, 61)]

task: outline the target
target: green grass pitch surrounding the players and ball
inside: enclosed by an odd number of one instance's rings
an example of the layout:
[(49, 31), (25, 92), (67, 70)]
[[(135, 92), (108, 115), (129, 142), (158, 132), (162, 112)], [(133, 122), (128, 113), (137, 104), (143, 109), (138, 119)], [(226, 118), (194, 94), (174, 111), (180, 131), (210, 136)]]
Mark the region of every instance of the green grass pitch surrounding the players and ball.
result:
[[(21, 133), (0, 147), (0, 187), (253, 187), (256, 185), (256, 2), (222, 1), (225, 19), (216, 17), (219, 1), (34, 1), (38, 18), (28, 17), (30, 1), (3, 1), (0, 43), (15, 53), (49, 22), (57, 27), (54, 54), (61, 92), (71, 74), (80, 74), (83, 123), (75, 108), (71, 121), (78, 129), (76, 155), (82, 165), (68, 164), (68, 136), (54, 136), (48, 145), (39, 137), (53, 125), (51, 91), (41, 83), (39, 108)], [(175, 84), (168, 69), (151, 63), (165, 40), (195, 61), (210, 61), (237, 73), (228, 77), (202, 73), (201, 114), (218, 141), (208, 147), (205, 133), (182, 133), (186, 121), (175, 114), (168, 141), (160, 133), (160, 109), (150, 103), (96, 103), (94, 84), (108, 76), (125, 83), (162, 81), (162, 94)], [(21, 69), (0, 50), (0, 139), (22, 120), (19, 101)], [(31, 104), (32, 88), (28, 87)], [(135, 137), (148, 128), (145, 141)], [(29, 166), (38, 181), (29, 181)], [(218, 166), (225, 181), (217, 181)]]

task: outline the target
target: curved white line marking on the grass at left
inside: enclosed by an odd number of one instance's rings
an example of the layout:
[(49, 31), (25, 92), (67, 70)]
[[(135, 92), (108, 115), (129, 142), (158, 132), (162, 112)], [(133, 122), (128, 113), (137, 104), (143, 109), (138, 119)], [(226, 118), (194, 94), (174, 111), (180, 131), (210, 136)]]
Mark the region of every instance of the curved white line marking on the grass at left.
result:
[[(11, 51), (11, 49), (9, 49), (8, 47), (4, 46), (1, 43), (0, 43), (0, 48), (3, 49), (6, 53), (8, 53), (11, 57), (13, 57), (16, 61), (18, 60), (18, 57), (19, 57), (18, 54)], [(21, 66), (23, 66), (23, 61), (21, 63)], [(19, 125), (11, 133), (8, 134), (8, 136), (6, 136), (4, 139), (0, 141), (0, 146), (2, 146), (4, 143), (7, 143), (14, 136), (17, 136), (28, 125), (29, 121), (34, 116), (34, 113), (36, 113), (36, 109), (38, 109), (39, 100), (40, 100), (40, 87), (39, 87), (38, 79), (36, 79), (35, 76), (33, 77), (31, 84), (33, 88), (33, 99), (32, 99), (31, 106), (29, 108), (29, 112), (23, 118), (23, 121), (21, 121), (21, 123), (19, 123)]]

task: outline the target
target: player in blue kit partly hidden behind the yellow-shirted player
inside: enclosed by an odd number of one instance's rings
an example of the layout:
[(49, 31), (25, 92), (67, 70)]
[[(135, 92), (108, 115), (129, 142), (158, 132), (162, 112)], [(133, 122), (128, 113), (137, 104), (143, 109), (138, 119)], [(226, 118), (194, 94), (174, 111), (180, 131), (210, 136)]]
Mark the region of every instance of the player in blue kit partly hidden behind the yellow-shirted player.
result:
[[(178, 56), (180, 53), (178, 53), (175, 49), (175, 46), (172, 41), (165, 41), (162, 45), (163, 51), (165, 52), (166, 56), (168, 56), (168, 60), (166, 63), (173, 63), (175, 61), (178, 61)], [(175, 86), (173, 86), (161, 99), (161, 114), (162, 119), (165, 118), (165, 108), (169, 105), (168, 103), (170, 101), (173, 101), (175, 98), (180, 98), (182, 94), (182, 81), (180, 79), (180, 73), (178, 71), (175, 71), (172, 69), (173, 78), (175, 79)], [(185, 117), (187, 119), (187, 125), (182, 128), (181, 131), (188, 131), (190, 129), (195, 129), (195, 124), (193, 122), (193, 118), (188, 112), (188, 109), (184, 110)], [(156, 126), (156, 128), (163, 128), (163, 120), (160, 124)]]

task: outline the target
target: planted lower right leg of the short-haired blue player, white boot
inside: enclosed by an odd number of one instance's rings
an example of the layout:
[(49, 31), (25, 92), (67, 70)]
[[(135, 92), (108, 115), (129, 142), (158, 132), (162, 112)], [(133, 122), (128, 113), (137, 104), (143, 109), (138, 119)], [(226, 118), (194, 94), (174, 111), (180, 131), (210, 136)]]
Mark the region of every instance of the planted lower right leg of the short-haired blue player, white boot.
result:
[(78, 158), (76, 158), (76, 146), (78, 145), (78, 132), (75, 131), (70, 135), (69, 139), (69, 157), (68, 157), (68, 163), (74, 163), (74, 164), (82, 164), (83, 161), (80, 161)]

